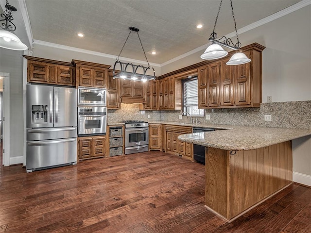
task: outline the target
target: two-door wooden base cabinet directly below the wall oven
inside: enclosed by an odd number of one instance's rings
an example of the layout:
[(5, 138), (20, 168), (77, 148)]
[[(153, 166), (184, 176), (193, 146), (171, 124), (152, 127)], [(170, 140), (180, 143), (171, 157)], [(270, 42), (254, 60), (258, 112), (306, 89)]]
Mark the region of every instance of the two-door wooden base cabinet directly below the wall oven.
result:
[(78, 137), (78, 159), (99, 158), (105, 156), (105, 136)]

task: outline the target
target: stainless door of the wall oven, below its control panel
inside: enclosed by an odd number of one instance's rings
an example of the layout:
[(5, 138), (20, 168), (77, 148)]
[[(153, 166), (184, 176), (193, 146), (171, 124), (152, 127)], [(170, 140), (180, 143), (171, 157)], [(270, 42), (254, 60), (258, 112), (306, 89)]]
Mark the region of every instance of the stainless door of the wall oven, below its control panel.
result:
[(79, 115), (78, 135), (106, 133), (106, 115)]

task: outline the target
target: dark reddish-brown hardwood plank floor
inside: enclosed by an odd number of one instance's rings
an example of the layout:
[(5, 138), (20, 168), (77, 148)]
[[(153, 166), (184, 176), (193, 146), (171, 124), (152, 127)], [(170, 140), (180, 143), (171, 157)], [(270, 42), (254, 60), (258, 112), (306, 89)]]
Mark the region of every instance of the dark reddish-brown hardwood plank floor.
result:
[(0, 232), (311, 233), (311, 188), (292, 184), (226, 223), (204, 207), (204, 166), (163, 152), (26, 173), (0, 168)]

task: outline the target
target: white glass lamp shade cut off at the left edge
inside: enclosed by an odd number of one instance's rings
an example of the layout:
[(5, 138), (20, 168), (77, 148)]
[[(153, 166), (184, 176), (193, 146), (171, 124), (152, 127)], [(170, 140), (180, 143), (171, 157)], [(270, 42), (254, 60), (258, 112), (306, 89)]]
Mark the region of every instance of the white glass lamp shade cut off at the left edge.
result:
[(8, 50), (27, 50), (27, 46), (13, 33), (0, 31), (0, 47)]

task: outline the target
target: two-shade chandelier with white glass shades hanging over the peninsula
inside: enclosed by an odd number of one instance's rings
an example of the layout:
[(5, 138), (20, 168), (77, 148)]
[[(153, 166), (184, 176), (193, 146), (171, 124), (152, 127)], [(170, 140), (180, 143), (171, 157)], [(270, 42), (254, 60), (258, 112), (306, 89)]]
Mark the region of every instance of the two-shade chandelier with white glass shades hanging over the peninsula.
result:
[[(233, 54), (233, 56), (230, 58), (230, 60), (226, 63), (227, 65), (240, 65), (240, 64), (248, 63), (251, 60), (249, 58), (247, 58), (246, 55), (244, 53), (242, 53), (242, 50), (240, 49), (242, 44), (239, 41), (239, 36), (238, 36), (238, 32), (237, 32), (237, 25), (236, 25), (234, 13), (233, 13), (232, 0), (230, 0), (230, 2), (231, 2), (231, 10), (232, 10), (232, 17), (233, 17), (233, 22), (234, 22), (235, 33), (237, 35), (237, 43), (234, 44), (230, 38), (226, 38), (225, 36), (221, 37), (220, 39), (217, 39), (217, 33), (215, 33), (215, 27), (216, 27), (220, 8), (222, 6), (222, 2), (223, 2), (223, 0), (220, 1), (220, 5), (218, 8), (218, 12), (217, 12), (217, 16), (216, 16), (216, 20), (215, 20), (215, 24), (214, 24), (214, 29), (213, 29), (213, 32), (210, 34), (209, 39), (208, 39), (210, 42), (212, 42), (212, 44), (207, 47), (205, 52), (201, 55), (201, 58), (206, 59), (206, 60), (213, 60), (213, 59), (225, 57), (228, 54), (228, 52), (225, 51), (221, 47), (221, 46), (224, 46), (224, 47), (227, 47), (229, 49), (237, 51), (237, 53)], [(223, 40), (223, 42), (221, 42), (222, 40)]]

